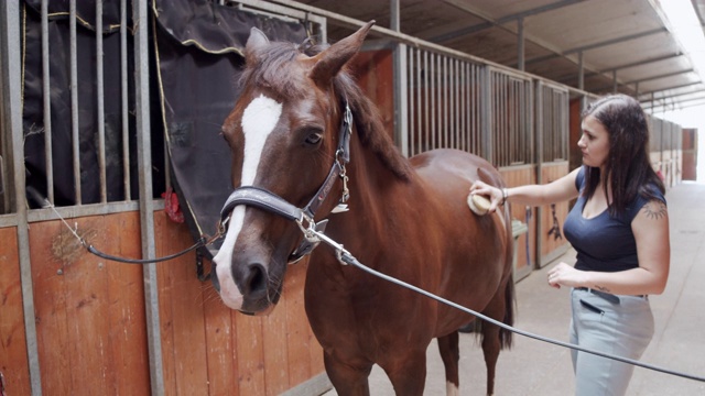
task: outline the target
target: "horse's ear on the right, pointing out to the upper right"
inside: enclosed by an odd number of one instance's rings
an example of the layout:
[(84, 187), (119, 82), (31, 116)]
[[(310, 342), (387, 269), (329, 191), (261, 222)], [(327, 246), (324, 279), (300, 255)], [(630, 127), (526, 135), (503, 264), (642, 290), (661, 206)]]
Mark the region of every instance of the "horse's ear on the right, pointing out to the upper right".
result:
[(316, 63), (311, 70), (310, 77), (318, 85), (325, 85), (333, 79), (343, 66), (360, 51), (367, 33), (375, 21), (369, 21), (357, 32), (330, 45), (330, 47), (316, 55), (314, 57)]

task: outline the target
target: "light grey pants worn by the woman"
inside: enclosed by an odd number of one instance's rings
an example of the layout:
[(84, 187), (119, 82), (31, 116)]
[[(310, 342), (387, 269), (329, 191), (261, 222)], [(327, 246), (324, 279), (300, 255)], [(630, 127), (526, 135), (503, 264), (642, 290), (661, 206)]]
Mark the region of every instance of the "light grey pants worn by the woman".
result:
[[(653, 337), (653, 315), (647, 297), (572, 292), (571, 342), (638, 360)], [(573, 350), (576, 396), (625, 395), (633, 366)]]

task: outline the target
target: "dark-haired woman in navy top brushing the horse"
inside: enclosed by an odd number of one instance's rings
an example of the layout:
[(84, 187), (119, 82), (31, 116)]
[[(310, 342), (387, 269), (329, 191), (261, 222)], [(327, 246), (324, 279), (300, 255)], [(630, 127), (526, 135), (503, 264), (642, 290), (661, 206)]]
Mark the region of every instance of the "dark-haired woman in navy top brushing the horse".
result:
[[(669, 215), (661, 179), (648, 154), (649, 129), (639, 102), (612, 95), (583, 113), (583, 166), (547, 185), (498, 189), (481, 182), (470, 194), (540, 206), (577, 197), (564, 233), (577, 252), (560, 263), (549, 285), (572, 287), (571, 342), (638, 360), (653, 336), (648, 295), (665, 288)], [(623, 395), (633, 366), (573, 350), (576, 395)]]

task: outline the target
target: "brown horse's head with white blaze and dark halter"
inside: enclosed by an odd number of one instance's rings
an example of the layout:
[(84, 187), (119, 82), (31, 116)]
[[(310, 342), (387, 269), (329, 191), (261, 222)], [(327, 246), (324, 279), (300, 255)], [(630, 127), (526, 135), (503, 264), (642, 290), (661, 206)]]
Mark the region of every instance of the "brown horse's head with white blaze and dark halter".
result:
[[(338, 202), (339, 177), (327, 177), (340, 163), (336, 152), (345, 107), (336, 96), (335, 78), (371, 25), (312, 56), (294, 44), (270, 43), (252, 29), (242, 95), (223, 127), (232, 151), (232, 185), (238, 187), (224, 208), (228, 230), (214, 258), (228, 307), (257, 314), (279, 300), (286, 264), (302, 240), (292, 221), (296, 215), (282, 212), (310, 208), (324, 180), (332, 180), (323, 188), (332, 196), (315, 204), (318, 215), (329, 213)], [(279, 209), (268, 206), (272, 200)]]

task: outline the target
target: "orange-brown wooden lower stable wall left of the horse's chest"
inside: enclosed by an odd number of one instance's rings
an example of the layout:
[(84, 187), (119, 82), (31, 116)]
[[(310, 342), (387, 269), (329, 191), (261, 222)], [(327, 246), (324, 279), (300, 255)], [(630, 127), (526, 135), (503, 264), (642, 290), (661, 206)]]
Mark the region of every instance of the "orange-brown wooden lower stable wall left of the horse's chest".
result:
[[(72, 219), (96, 249), (139, 257), (138, 212)], [(184, 224), (155, 212), (156, 255), (193, 244)], [(30, 378), (14, 228), (0, 229), (0, 370), (9, 395)], [(150, 393), (140, 265), (91, 255), (58, 220), (30, 227), (42, 389), (55, 395)], [(166, 395), (278, 395), (324, 371), (303, 307), (306, 264), (290, 267), (278, 307), (249, 317), (225, 307), (195, 274), (195, 254), (158, 264)]]

